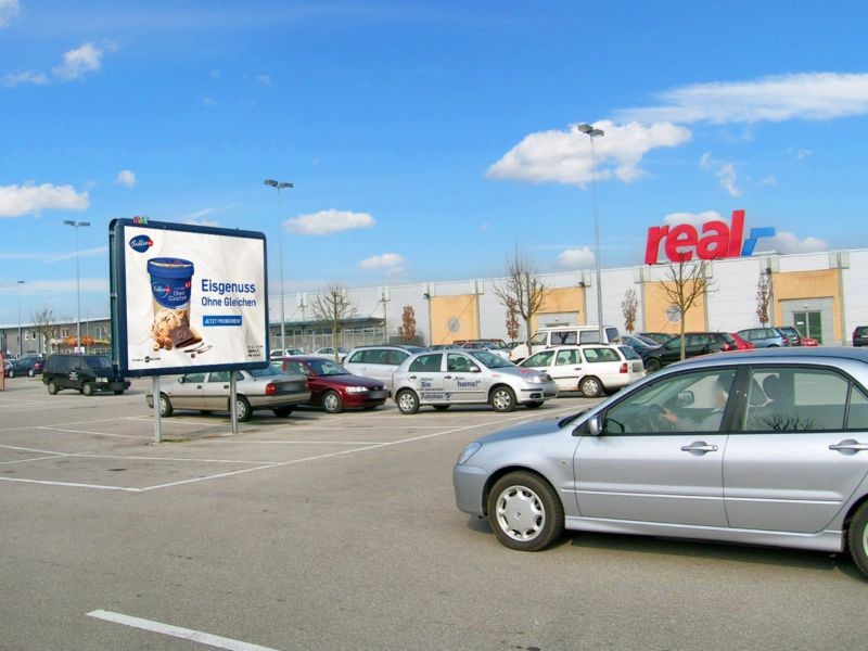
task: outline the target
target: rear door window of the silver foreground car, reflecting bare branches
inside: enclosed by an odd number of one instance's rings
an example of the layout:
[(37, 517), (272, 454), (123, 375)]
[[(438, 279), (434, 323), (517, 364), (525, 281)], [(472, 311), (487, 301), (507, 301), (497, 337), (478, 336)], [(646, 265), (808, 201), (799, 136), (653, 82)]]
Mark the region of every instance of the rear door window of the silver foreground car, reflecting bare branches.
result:
[[(850, 381), (832, 370), (758, 367), (751, 371), (743, 429), (843, 430), (848, 396)], [(858, 413), (854, 418), (857, 420)]]

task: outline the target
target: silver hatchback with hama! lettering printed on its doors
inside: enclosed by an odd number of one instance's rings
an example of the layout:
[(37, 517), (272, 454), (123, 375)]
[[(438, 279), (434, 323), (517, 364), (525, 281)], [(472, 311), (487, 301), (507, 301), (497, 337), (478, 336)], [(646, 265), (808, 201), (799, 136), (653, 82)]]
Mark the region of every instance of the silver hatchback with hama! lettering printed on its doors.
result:
[(490, 405), (512, 411), (516, 405), (540, 407), (558, 395), (547, 373), (516, 367), (488, 350), (435, 350), (408, 357), (392, 378), (395, 403), (401, 413), (423, 405)]

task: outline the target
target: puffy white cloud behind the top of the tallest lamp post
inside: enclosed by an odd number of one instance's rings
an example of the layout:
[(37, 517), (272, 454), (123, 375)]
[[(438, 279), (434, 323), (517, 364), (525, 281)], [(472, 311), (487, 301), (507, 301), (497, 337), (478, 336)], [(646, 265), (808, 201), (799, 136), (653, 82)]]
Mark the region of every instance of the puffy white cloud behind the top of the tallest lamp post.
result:
[(663, 146), (677, 146), (690, 139), (690, 131), (669, 123), (650, 126), (630, 123), (615, 125), (601, 120), (593, 125), (605, 131), (595, 139), (597, 170), (592, 169), (590, 143), (584, 133), (569, 130), (539, 131), (526, 136), (519, 144), (492, 165), (486, 176), (542, 183), (585, 186), (593, 176), (630, 182), (644, 173), (639, 168), (642, 156)]

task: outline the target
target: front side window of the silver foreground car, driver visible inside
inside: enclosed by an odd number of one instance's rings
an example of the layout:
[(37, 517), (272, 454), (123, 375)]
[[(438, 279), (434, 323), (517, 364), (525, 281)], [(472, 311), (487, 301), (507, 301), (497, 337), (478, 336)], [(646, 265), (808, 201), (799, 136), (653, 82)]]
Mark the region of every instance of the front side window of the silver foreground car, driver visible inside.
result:
[(679, 373), (628, 395), (605, 412), (604, 434), (718, 432), (736, 371)]

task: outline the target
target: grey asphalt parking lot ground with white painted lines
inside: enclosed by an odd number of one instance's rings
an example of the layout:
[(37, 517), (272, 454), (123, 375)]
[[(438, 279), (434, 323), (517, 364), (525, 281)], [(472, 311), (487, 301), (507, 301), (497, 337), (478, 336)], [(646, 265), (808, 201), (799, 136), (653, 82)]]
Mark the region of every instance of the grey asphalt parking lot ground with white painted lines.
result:
[(177, 412), (0, 393), (2, 649), (864, 649), (868, 584), (796, 550), (569, 535), (501, 547), (454, 505), (473, 438), (538, 410)]

